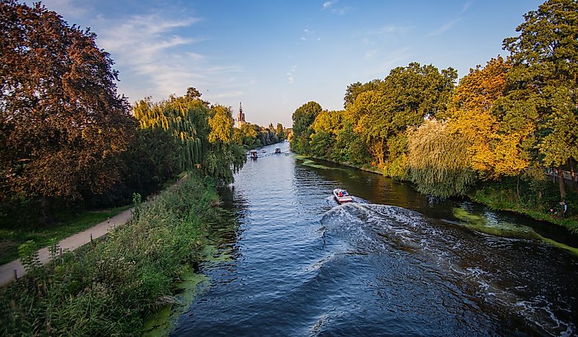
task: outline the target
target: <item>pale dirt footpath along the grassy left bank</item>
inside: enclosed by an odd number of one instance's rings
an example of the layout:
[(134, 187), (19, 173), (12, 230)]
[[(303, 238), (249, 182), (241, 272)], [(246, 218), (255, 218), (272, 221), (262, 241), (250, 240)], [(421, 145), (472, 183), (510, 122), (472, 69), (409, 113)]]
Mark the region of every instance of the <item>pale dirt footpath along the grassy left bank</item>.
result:
[[(114, 228), (126, 224), (127, 221), (129, 221), (131, 218), (132, 211), (133, 208), (127, 209), (127, 211), (123, 211), (122, 213), (111, 217), (107, 221), (96, 224), (95, 226), (88, 228), (88, 230), (84, 230), (83, 232), (74, 234), (71, 237), (62, 239), (62, 241), (60, 241), (58, 244), (60, 247), (62, 247), (62, 250), (75, 250), (81, 245), (89, 243), (91, 234), (92, 239), (96, 239), (107, 234), (109, 228)], [(50, 256), (48, 248), (42, 248), (39, 250), (38, 255), (40, 256), (40, 262), (42, 262), (43, 265), (46, 265)], [(21, 276), (26, 273), (20, 260), (14, 260), (0, 266), (0, 286), (5, 286), (10, 284), (10, 282), (14, 282), (14, 271), (16, 271), (18, 278), (21, 278)]]

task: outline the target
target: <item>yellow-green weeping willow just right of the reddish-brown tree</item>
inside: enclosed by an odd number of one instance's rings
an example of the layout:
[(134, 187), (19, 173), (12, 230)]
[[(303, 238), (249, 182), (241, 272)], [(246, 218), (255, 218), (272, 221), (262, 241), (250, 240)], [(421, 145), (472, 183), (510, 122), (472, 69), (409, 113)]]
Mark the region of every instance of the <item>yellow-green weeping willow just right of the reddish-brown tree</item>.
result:
[(194, 170), (200, 165), (209, 148), (208, 103), (187, 96), (171, 96), (152, 103), (150, 97), (135, 104), (135, 118), (141, 129), (161, 128), (171, 133), (181, 145), (181, 170)]

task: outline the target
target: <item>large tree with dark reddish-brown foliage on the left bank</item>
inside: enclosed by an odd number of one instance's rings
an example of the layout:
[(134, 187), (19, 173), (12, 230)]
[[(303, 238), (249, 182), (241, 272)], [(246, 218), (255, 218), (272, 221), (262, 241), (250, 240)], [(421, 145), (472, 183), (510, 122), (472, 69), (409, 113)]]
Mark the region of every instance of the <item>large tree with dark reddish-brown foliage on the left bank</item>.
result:
[(0, 174), (11, 193), (52, 198), (102, 193), (120, 177), (133, 131), (110, 55), (90, 29), (40, 3), (0, 2)]

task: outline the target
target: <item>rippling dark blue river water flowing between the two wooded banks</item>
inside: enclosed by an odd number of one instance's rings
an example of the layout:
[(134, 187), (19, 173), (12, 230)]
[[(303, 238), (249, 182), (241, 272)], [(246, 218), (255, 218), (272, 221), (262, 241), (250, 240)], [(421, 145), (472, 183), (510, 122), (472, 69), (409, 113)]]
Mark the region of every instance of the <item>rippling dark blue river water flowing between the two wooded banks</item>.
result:
[(578, 334), (566, 230), (264, 149), (223, 192), (239, 226), (171, 336)]

